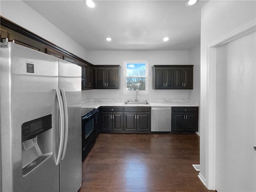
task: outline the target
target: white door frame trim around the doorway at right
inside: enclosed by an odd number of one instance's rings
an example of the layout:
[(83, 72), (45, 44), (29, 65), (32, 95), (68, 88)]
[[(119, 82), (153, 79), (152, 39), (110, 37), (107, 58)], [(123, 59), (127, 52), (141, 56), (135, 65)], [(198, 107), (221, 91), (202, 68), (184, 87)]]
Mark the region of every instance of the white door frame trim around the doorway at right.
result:
[[(206, 87), (206, 186), (216, 187), (216, 58), (217, 48), (228, 42), (256, 31), (256, 19), (218, 38), (207, 46), (207, 87)], [(256, 106), (255, 106), (256, 107)], [(207, 158), (208, 157), (208, 158)], [(207, 166), (208, 164), (208, 166)], [(208, 170), (208, 171), (207, 171)], [(208, 172), (208, 174), (207, 174)], [(200, 177), (200, 175), (199, 175)]]

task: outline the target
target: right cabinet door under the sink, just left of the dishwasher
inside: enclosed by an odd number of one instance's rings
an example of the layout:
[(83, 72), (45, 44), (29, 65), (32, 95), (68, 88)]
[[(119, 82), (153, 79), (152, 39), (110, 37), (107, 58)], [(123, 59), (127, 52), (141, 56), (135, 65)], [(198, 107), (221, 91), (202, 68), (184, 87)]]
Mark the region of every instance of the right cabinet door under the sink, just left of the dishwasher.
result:
[(137, 113), (137, 131), (150, 131), (150, 113)]

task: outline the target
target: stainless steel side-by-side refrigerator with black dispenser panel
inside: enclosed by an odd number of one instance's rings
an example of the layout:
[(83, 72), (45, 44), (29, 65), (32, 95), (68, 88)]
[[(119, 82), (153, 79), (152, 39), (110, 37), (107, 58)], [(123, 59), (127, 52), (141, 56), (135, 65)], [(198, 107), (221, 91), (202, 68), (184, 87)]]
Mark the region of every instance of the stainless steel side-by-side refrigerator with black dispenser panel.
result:
[(1, 192), (76, 192), (82, 181), (81, 67), (0, 48)]

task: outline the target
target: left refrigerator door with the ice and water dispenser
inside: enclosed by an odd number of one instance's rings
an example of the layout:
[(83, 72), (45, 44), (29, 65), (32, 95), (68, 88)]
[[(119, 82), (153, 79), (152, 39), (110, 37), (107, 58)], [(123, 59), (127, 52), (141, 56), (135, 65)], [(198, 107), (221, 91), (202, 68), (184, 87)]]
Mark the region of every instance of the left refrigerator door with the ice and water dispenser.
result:
[(2, 191), (58, 192), (58, 59), (1, 48)]

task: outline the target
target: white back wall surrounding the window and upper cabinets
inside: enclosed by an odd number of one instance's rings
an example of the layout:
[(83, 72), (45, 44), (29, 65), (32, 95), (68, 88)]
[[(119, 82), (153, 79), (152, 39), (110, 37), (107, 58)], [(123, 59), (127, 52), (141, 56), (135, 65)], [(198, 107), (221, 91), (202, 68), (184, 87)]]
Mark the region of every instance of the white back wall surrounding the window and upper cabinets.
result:
[(148, 62), (148, 95), (139, 95), (139, 99), (188, 99), (192, 90), (153, 90), (153, 65), (187, 65), (191, 64), (188, 51), (88, 51), (87, 61), (95, 65), (121, 65), (120, 90), (86, 90), (82, 91), (82, 100), (87, 98), (127, 98), (135, 99), (135, 95), (124, 95), (124, 61), (146, 60)]

